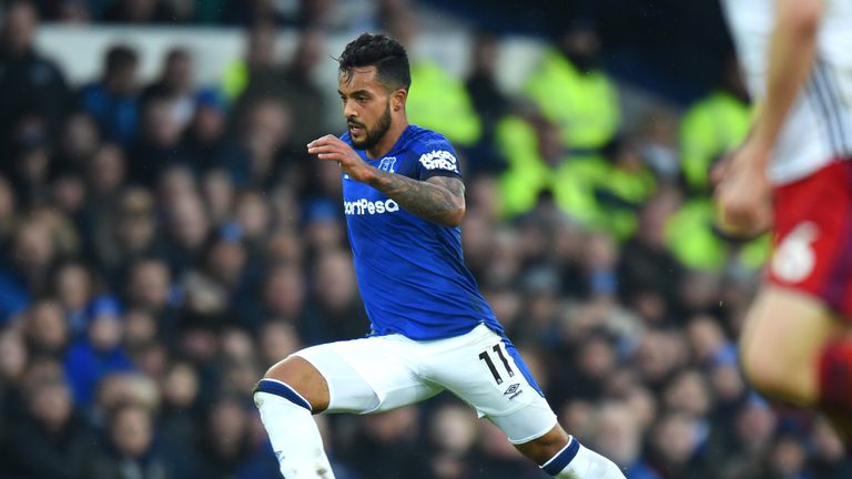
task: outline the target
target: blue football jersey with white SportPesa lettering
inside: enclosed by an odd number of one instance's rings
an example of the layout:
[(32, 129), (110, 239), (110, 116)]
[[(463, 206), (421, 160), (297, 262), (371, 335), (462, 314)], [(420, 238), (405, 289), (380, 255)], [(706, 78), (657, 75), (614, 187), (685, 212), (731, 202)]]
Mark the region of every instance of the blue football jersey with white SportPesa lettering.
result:
[[(341, 136), (352, 145), (348, 133)], [(460, 177), (446, 137), (409, 125), (390, 151), (371, 165), (414, 180)], [(416, 340), (468, 333), (485, 324), (503, 329), (462, 253), (462, 228), (415, 216), (378, 190), (343, 175), (343, 200), (358, 288), (371, 335), (402, 334)]]

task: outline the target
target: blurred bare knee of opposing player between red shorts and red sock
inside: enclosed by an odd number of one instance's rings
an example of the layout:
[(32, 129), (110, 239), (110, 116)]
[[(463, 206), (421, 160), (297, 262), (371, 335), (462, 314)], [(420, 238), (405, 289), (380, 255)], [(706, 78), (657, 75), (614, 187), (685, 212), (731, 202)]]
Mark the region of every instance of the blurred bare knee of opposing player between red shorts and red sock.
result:
[(742, 367), (762, 393), (797, 405), (818, 399), (816, 364), (845, 324), (818, 297), (765, 286), (752, 305), (740, 339)]

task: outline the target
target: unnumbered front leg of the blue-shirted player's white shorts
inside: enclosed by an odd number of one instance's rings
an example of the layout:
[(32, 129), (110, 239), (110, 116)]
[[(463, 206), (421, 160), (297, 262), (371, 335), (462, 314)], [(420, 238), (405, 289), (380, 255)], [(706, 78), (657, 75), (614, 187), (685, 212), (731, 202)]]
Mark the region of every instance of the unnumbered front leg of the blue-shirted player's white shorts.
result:
[(440, 391), (420, 379), (395, 342), (369, 337), (302, 349), (328, 384), (328, 412), (367, 414), (418, 402)]

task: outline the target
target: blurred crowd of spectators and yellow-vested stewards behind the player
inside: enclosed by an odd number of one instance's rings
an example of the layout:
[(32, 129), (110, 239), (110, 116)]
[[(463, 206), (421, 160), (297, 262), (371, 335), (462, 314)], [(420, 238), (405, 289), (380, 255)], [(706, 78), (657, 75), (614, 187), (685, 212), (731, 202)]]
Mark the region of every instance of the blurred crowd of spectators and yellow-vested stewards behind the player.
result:
[[(343, 3), (0, 7), (1, 478), (276, 477), (254, 383), (368, 328), (339, 170), (304, 147), (343, 128), (312, 74)], [(408, 7), (373, 21), (412, 45)], [(33, 47), (40, 18), (242, 24), (246, 47), (214, 85), (181, 45), (144, 83), (120, 43), (69, 84)], [(300, 32), (284, 63), (282, 26)], [(684, 111), (622, 118), (600, 54), (574, 21), (513, 94), (498, 35), (476, 34), (465, 78), (412, 58), (409, 119), (457, 145), (466, 259), (497, 317), (566, 429), (631, 479), (852, 477), (826, 422), (738, 368), (768, 242), (713, 226), (709, 172), (751, 114), (736, 64)], [(317, 421), (339, 479), (544, 477), (448, 395)]]

